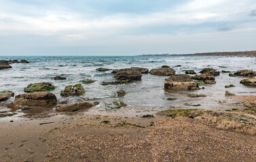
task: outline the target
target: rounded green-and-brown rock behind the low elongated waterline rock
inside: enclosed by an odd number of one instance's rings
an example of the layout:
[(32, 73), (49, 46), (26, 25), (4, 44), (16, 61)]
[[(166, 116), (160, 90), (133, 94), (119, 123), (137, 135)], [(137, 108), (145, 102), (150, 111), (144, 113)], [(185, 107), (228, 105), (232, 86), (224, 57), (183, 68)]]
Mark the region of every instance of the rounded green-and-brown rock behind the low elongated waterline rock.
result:
[(66, 86), (65, 90), (63, 92), (60, 92), (60, 95), (63, 97), (69, 97), (69, 96), (81, 96), (86, 92), (84, 90), (84, 87), (81, 86), (81, 84), (75, 84), (75, 86)]

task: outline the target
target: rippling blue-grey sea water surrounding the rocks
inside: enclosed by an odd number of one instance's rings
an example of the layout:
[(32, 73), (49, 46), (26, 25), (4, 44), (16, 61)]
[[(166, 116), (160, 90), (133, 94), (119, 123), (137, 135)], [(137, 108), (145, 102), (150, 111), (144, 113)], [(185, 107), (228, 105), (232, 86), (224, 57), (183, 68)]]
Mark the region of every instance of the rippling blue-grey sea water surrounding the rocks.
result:
[[(236, 72), (237, 70), (256, 70), (256, 57), (156, 57), (156, 56), (130, 56), (130, 57), (3, 57), (0, 59), (26, 59), (30, 63), (12, 63), (12, 68), (0, 71), (0, 91), (11, 90), (15, 94), (24, 93), (23, 89), (30, 83), (51, 82), (56, 86), (53, 92), (58, 101), (64, 101), (66, 97), (60, 97), (60, 91), (69, 84), (77, 84), (84, 78), (97, 80), (92, 84), (83, 84), (86, 94), (81, 97), (69, 97), (70, 102), (85, 100), (100, 101), (96, 110), (105, 110), (105, 103), (123, 101), (128, 104), (124, 109), (161, 109), (168, 107), (186, 107), (184, 103), (201, 104), (204, 109), (225, 109), (217, 104), (225, 99), (225, 90), (235, 94), (256, 94), (256, 88), (250, 88), (240, 84), (241, 77), (230, 77), (221, 73), (216, 76), (217, 84), (204, 85), (204, 90), (185, 92), (166, 92), (164, 80), (168, 76), (153, 76), (143, 74), (141, 81), (121, 85), (100, 85), (103, 81), (114, 80), (109, 72), (98, 72), (96, 68), (120, 69), (130, 67), (161, 68), (169, 65), (176, 70), (176, 74), (183, 74), (183, 70), (195, 70), (200, 72), (203, 68)], [(175, 67), (175, 65), (182, 65)], [(226, 68), (221, 68), (225, 66)], [(53, 80), (54, 76), (65, 76), (67, 80)], [(234, 84), (234, 88), (224, 88), (225, 85)], [(120, 88), (126, 90), (126, 96), (117, 98), (115, 91)], [(207, 97), (191, 99), (187, 94), (206, 94)], [(175, 97), (176, 101), (168, 101), (166, 98)], [(0, 111), (7, 110), (6, 105), (14, 101), (14, 97), (0, 103)], [(214, 102), (213, 102), (214, 101)]]

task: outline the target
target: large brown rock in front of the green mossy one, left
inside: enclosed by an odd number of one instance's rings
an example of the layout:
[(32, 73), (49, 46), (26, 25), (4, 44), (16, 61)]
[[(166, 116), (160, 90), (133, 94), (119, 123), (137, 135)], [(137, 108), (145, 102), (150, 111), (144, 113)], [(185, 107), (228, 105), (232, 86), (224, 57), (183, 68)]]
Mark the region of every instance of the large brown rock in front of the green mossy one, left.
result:
[(19, 94), (15, 97), (15, 101), (10, 103), (8, 107), (17, 109), (21, 108), (45, 108), (54, 107), (57, 103), (56, 96), (50, 92), (31, 92)]

